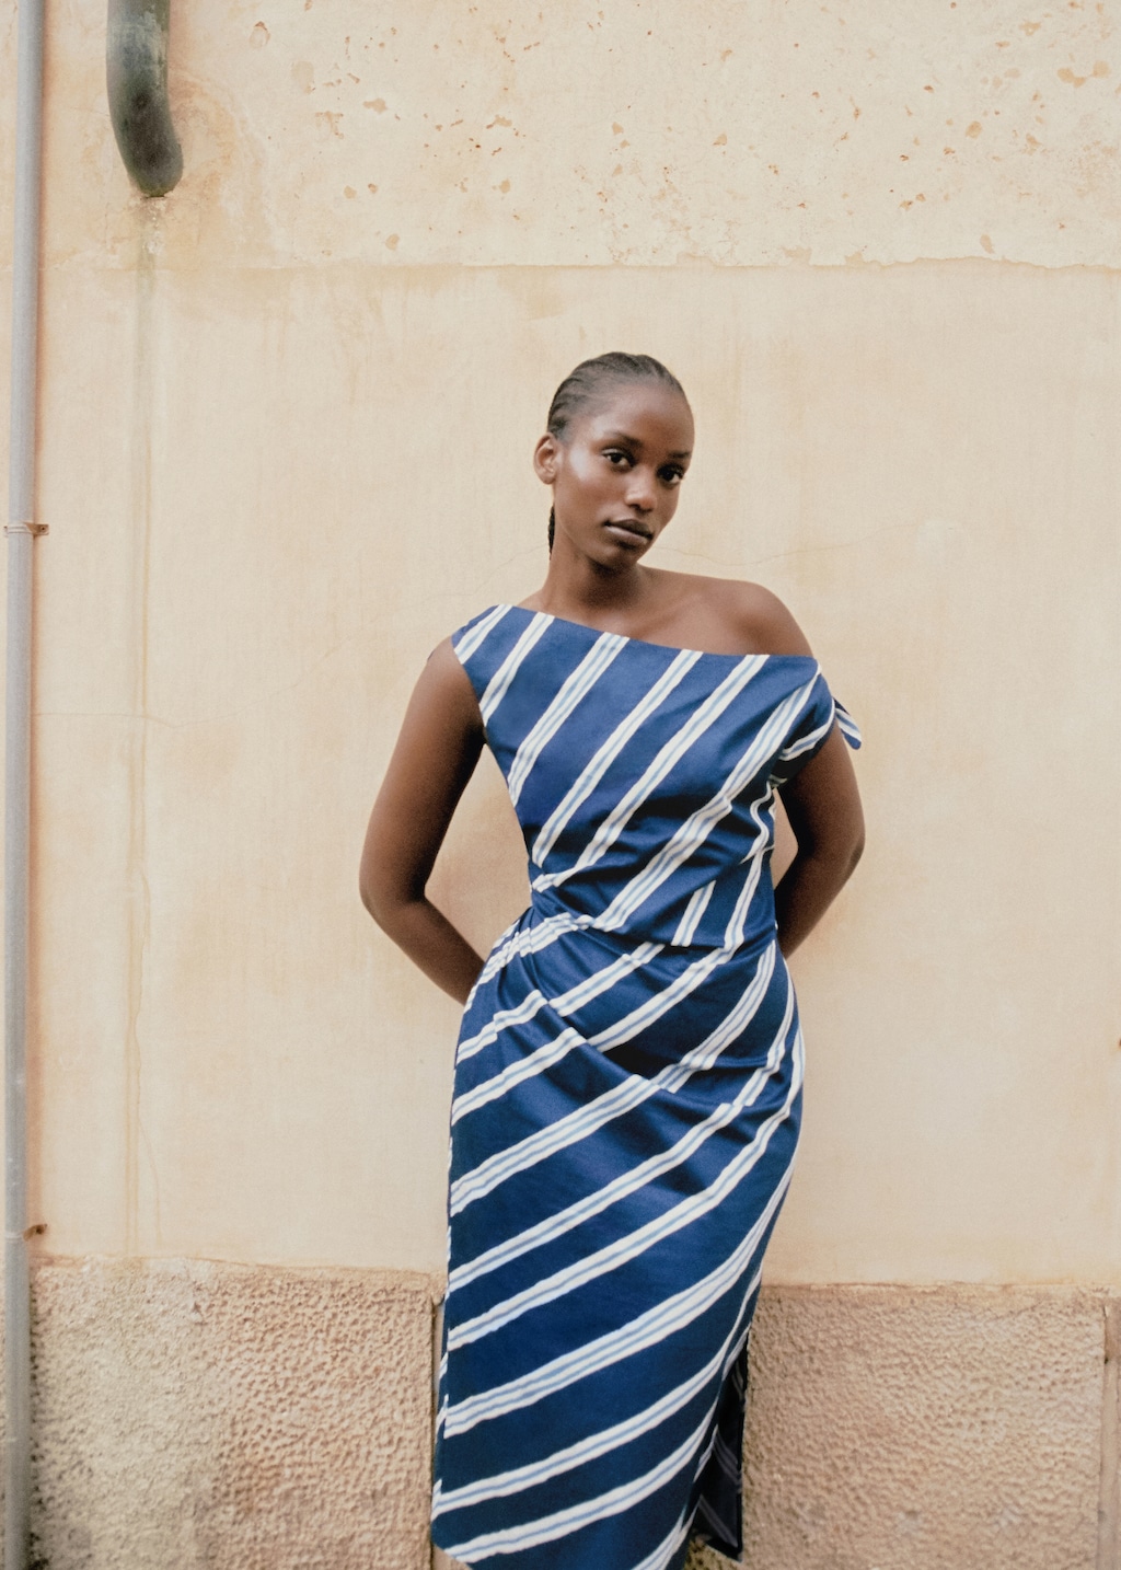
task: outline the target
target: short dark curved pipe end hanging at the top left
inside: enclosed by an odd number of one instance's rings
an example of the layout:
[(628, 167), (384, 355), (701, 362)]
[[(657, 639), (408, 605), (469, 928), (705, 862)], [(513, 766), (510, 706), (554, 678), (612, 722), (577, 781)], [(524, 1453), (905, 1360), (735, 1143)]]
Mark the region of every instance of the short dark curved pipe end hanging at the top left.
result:
[(168, 104), (170, 5), (108, 0), (108, 113), (124, 166), (144, 196), (166, 196), (184, 171)]

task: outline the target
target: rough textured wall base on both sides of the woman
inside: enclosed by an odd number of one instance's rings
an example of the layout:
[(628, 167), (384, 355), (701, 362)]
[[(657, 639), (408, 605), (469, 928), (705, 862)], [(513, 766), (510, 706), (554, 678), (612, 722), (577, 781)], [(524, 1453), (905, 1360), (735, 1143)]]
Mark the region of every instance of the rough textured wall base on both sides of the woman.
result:
[[(41, 1265), (38, 1570), (427, 1570), (432, 1306), (403, 1272)], [(1118, 1328), (1080, 1289), (769, 1289), (746, 1564), (1121, 1570)]]

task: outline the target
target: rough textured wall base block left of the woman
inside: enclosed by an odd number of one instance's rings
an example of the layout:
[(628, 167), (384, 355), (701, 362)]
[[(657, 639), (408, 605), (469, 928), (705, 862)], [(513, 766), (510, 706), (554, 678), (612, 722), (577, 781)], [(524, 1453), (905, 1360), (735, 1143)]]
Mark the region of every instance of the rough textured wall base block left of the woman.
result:
[(427, 1276), (46, 1265), (35, 1382), (49, 1570), (427, 1567)]

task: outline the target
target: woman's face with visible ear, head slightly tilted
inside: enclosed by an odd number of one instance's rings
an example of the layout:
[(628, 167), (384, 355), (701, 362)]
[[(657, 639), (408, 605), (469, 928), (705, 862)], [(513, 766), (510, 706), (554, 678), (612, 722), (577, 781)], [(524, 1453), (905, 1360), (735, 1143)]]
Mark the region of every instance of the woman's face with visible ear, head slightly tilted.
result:
[(691, 457), (692, 414), (680, 392), (658, 382), (608, 388), (564, 441), (537, 443), (534, 468), (553, 487), (553, 548), (564, 542), (606, 568), (639, 560), (677, 512)]

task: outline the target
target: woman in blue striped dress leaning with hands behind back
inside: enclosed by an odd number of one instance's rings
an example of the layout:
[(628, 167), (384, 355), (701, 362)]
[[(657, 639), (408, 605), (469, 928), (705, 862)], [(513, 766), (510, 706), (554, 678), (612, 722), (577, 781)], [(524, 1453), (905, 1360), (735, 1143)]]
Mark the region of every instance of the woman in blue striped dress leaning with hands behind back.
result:
[[(421, 677), (363, 900), (465, 1003), (433, 1542), (468, 1565), (738, 1554), (746, 1344), (790, 1179), (785, 967), (856, 867), (856, 741), (757, 584), (645, 567), (692, 454), (680, 383), (603, 355), (534, 466), (550, 568)], [(480, 955), (425, 898), (487, 743), (532, 903)], [(772, 807), (798, 854), (771, 887)]]

